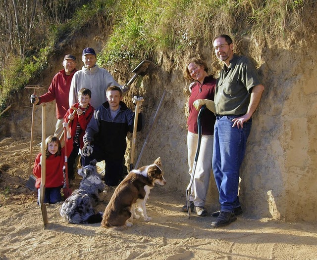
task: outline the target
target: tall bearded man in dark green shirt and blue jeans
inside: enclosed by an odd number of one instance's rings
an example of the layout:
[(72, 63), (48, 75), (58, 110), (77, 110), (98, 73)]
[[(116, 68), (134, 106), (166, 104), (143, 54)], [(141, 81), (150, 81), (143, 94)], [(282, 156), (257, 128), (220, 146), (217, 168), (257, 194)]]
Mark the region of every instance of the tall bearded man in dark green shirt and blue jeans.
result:
[(264, 86), (252, 62), (233, 52), (232, 39), (225, 34), (213, 38), (213, 49), (224, 65), (217, 80), (214, 104), (201, 100), (216, 114), (213, 133), (212, 170), (219, 191), (220, 211), (212, 226), (223, 226), (235, 221), (243, 213), (239, 197), (239, 170), (247, 139), (251, 130), (252, 115), (257, 109)]

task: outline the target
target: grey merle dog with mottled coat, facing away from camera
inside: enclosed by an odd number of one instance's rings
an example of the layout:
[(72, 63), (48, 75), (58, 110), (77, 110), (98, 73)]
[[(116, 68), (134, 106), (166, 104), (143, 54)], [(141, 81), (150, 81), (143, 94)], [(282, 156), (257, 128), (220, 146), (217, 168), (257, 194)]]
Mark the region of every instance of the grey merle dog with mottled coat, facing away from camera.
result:
[(97, 173), (96, 160), (85, 166), (78, 174), (83, 177), (78, 189), (64, 201), (60, 215), (66, 221), (74, 224), (98, 223), (102, 221), (103, 213), (95, 213), (94, 207), (100, 200), (105, 189), (102, 176)]

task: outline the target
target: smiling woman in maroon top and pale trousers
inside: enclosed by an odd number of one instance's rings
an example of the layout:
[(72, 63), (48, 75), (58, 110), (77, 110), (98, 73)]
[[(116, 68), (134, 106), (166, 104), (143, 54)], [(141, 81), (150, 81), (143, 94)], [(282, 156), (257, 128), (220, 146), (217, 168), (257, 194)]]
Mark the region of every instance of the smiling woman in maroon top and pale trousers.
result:
[[(208, 67), (205, 61), (200, 58), (191, 58), (184, 69), (184, 77), (187, 80), (194, 80), (190, 85), (191, 95), (188, 100), (189, 117), (187, 120), (187, 150), (188, 150), (188, 166), (189, 174), (192, 174), (192, 167), (195, 159), (197, 141), (198, 141), (198, 126), (197, 117), (199, 111), (194, 107), (193, 103), (197, 99), (214, 98), (214, 90), (216, 80), (208, 75)], [(209, 187), (209, 179), (212, 168), (212, 146), (213, 146), (213, 126), (215, 115), (208, 109), (202, 115), (202, 141), (200, 153), (196, 165), (194, 182), (191, 187), (189, 197), (190, 207), (197, 213), (199, 217), (206, 217), (205, 209), (206, 196)], [(187, 212), (187, 206), (182, 208)]]

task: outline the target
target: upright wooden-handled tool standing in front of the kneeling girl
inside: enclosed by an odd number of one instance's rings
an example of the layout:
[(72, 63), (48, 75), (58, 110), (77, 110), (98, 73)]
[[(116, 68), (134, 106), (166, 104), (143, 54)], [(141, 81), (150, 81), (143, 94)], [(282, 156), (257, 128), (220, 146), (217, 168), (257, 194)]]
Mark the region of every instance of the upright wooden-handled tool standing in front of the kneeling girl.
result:
[(43, 218), (44, 228), (49, 222), (48, 213), (46, 210), (46, 205), (44, 204), (45, 198), (45, 182), (46, 182), (46, 149), (45, 149), (45, 139), (46, 139), (46, 103), (42, 103), (42, 162), (41, 162), (41, 185), (40, 185), (40, 208)]

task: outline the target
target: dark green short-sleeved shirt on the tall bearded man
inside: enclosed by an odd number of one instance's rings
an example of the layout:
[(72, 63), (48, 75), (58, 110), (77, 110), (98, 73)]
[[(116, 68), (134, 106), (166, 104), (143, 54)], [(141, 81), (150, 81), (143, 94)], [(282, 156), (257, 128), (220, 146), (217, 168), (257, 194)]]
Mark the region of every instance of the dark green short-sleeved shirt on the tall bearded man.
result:
[(233, 54), (229, 67), (223, 66), (214, 94), (216, 115), (244, 115), (252, 87), (262, 84), (258, 72), (245, 56)]

